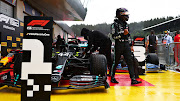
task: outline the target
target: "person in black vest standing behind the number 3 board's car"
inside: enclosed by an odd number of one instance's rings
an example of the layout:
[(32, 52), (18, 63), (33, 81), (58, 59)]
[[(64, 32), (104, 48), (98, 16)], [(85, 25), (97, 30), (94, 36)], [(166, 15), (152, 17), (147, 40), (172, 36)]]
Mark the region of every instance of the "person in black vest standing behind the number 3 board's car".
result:
[(149, 49), (149, 53), (155, 53), (157, 49), (157, 41), (158, 37), (154, 35), (154, 30), (151, 30), (151, 35), (147, 36), (147, 47)]

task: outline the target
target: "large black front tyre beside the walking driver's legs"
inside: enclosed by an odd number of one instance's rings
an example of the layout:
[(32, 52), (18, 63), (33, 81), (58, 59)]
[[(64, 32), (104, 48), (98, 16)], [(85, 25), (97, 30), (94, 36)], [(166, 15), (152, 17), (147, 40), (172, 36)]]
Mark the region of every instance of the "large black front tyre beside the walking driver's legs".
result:
[(104, 55), (92, 54), (90, 56), (90, 73), (92, 75), (105, 76), (107, 73), (107, 60)]

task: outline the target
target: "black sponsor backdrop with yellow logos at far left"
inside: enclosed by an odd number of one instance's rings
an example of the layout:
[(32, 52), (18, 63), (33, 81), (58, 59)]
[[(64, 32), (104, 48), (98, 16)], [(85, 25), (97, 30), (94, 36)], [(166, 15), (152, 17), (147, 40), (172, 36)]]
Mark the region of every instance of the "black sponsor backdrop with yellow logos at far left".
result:
[(6, 56), (10, 50), (22, 48), (23, 23), (5, 14), (0, 13), (0, 15), (16, 22), (15, 26), (11, 23), (0, 21), (1, 56)]

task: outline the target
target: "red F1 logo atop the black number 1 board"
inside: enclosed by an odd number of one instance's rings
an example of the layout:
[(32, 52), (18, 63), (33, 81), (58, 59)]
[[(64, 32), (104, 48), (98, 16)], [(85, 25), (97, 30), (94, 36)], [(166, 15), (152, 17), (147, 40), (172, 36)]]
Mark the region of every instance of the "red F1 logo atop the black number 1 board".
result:
[(32, 20), (30, 23), (27, 24), (27, 26), (45, 26), (50, 20)]

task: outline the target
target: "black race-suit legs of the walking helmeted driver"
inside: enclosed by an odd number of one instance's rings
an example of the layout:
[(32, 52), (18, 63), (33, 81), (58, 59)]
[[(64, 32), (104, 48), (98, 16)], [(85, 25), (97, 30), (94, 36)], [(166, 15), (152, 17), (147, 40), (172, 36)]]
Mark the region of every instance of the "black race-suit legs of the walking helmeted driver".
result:
[(133, 57), (131, 53), (131, 48), (129, 46), (129, 42), (120, 42), (119, 40), (115, 40), (115, 55), (114, 55), (114, 61), (113, 66), (111, 69), (111, 76), (114, 77), (116, 72), (116, 67), (119, 64), (119, 60), (121, 58), (121, 55), (124, 56), (124, 59), (128, 65), (128, 70), (130, 74), (130, 78), (134, 78), (134, 68), (133, 68)]

